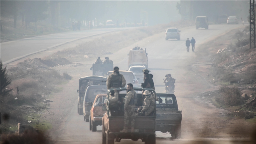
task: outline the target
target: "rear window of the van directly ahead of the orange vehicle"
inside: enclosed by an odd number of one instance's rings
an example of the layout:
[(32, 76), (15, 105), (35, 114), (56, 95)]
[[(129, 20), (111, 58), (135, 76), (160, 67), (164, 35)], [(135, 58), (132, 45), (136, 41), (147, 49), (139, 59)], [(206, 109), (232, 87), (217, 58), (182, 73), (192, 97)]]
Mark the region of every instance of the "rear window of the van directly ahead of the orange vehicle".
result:
[(93, 102), (95, 100), (96, 95), (105, 94), (107, 93), (107, 89), (105, 88), (94, 88), (94, 89), (87, 89), (85, 93), (85, 101)]

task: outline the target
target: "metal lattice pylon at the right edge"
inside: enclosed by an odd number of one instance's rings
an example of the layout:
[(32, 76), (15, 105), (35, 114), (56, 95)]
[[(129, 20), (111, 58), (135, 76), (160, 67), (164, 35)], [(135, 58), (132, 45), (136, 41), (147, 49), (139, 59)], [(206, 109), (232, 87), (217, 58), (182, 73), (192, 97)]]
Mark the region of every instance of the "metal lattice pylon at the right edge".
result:
[(250, 0), (250, 49), (255, 48), (255, 9), (254, 0)]

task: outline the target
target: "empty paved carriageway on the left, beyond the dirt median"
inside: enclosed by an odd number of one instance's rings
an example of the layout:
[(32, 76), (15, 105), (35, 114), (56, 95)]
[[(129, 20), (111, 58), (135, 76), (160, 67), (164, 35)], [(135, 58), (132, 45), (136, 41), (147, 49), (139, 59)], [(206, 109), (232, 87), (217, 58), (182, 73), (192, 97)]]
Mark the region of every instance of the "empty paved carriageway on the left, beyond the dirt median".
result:
[(19, 39), (0, 43), (0, 57), (3, 64), (10, 63), (24, 56), (41, 52), (70, 41), (78, 40), (84, 37), (95, 36), (111, 31), (120, 31), (128, 28), (103, 28), (81, 31), (70, 31), (65, 33), (36, 36), (32, 38)]

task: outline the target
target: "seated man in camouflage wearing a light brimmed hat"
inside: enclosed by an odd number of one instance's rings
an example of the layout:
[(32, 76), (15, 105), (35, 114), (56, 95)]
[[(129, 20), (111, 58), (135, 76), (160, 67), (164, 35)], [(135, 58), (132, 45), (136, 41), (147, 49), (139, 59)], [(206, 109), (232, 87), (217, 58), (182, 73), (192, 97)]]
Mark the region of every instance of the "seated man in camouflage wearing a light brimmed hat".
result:
[(145, 95), (145, 99), (141, 111), (138, 109), (138, 116), (148, 116), (155, 110), (155, 98), (148, 90), (145, 90), (142, 94)]

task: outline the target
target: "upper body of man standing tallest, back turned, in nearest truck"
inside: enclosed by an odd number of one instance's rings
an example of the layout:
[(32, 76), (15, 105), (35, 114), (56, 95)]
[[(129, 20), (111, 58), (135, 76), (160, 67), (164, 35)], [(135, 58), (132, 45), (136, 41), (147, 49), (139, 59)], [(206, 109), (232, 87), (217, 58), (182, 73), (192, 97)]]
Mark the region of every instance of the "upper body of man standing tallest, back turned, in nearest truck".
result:
[(124, 87), (126, 81), (124, 76), (119, 73), (119, 68), (116, 66), (113, 73), (108, 76), (107, 89)]

